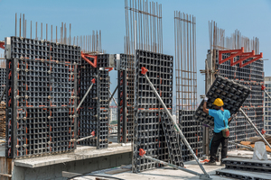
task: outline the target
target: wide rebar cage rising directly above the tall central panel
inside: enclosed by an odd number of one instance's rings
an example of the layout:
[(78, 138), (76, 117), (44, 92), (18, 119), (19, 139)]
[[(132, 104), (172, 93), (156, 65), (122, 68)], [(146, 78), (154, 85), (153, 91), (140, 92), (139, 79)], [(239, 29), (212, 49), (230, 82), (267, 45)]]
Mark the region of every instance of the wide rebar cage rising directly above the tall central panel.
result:
[(135, 49), (163, 53), (162, 4), (147, 0), (125, 0), (125, 53)]

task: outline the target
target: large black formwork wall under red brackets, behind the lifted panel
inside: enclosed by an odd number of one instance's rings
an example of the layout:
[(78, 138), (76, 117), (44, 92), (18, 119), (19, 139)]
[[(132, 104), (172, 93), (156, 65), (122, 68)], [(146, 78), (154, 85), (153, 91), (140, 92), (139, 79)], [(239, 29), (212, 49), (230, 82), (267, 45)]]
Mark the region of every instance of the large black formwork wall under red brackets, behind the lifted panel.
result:
[[(222, 58), (228, 57), (229, 54), (222, 55)], [(238, 57), (234, 59), (234, 61), (236, 60), (238, 60)], [(244, 63), (246, 61), (244, 61)], [(218, 69), (219, 76), (232, 79), (235, 82), (238, 82), (238, 84), (244, 85), (251, 89), (251, 93), (248, 95), (246, 101), (242, 104), (242, 109), (247, 113), (251, 121), (254, 122), (258, 130), (264, 129), (264, 93), (261, 90), (261, 84), (264, 83), (263, 60), (257, 60), (246, 67), (240, 68), (239, 65), (231, 67), (229, 61), (219, 64), (219, 59), (217, 57), (216, 68)], [(229, 131), (229, 141), (246, 140), (250, 137), (257, 136), (256, 131), (248, 123), (241, 112), (238, 112), (237, 118), (229, 124)], [(238, 147), (229, 144), (229, 149), (234, 148)]]

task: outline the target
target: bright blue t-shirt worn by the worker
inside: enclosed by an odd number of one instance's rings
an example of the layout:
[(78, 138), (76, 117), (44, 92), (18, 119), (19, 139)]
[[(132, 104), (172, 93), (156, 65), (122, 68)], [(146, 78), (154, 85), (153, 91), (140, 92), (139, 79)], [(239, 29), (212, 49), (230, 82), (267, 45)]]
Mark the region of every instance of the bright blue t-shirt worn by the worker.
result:
[(225, 120), (226, 127), (228, 126), (228, 120), (230, 118), (229, 110), (209, 110), (209, 115), (214, 118), (214, 132), (219, 133), (221, 130), (225, 129), (223, 120)]

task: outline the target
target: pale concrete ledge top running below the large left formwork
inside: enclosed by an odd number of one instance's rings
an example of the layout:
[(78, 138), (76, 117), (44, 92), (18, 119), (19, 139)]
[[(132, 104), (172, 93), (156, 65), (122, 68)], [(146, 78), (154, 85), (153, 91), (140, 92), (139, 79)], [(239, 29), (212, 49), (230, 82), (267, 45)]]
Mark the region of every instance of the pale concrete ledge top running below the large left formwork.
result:
[(93, 157), (106, 157), (126, 152), (132, 152), (132, 147), (131, 146), (122, 147), (119, 144), (110, 144), (109, 148), (106, 149), (96, 149), (95, 147), (79, 146), (74, 152), (66, 154), (51, 155), (46, 157), (15, 159), (14, 165), (35, 168), (41, 166), (50, 166), (55, 164), (67, 163), (70, 161), (83, 160)]

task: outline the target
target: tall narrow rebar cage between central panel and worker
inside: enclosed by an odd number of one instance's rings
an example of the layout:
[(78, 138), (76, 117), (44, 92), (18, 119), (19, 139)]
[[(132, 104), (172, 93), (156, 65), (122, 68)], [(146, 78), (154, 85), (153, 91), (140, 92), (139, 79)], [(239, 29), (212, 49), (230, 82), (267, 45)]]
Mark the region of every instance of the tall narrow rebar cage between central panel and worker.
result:
[(174, 12), (177, 111), (197, 107), (196, 17)]

